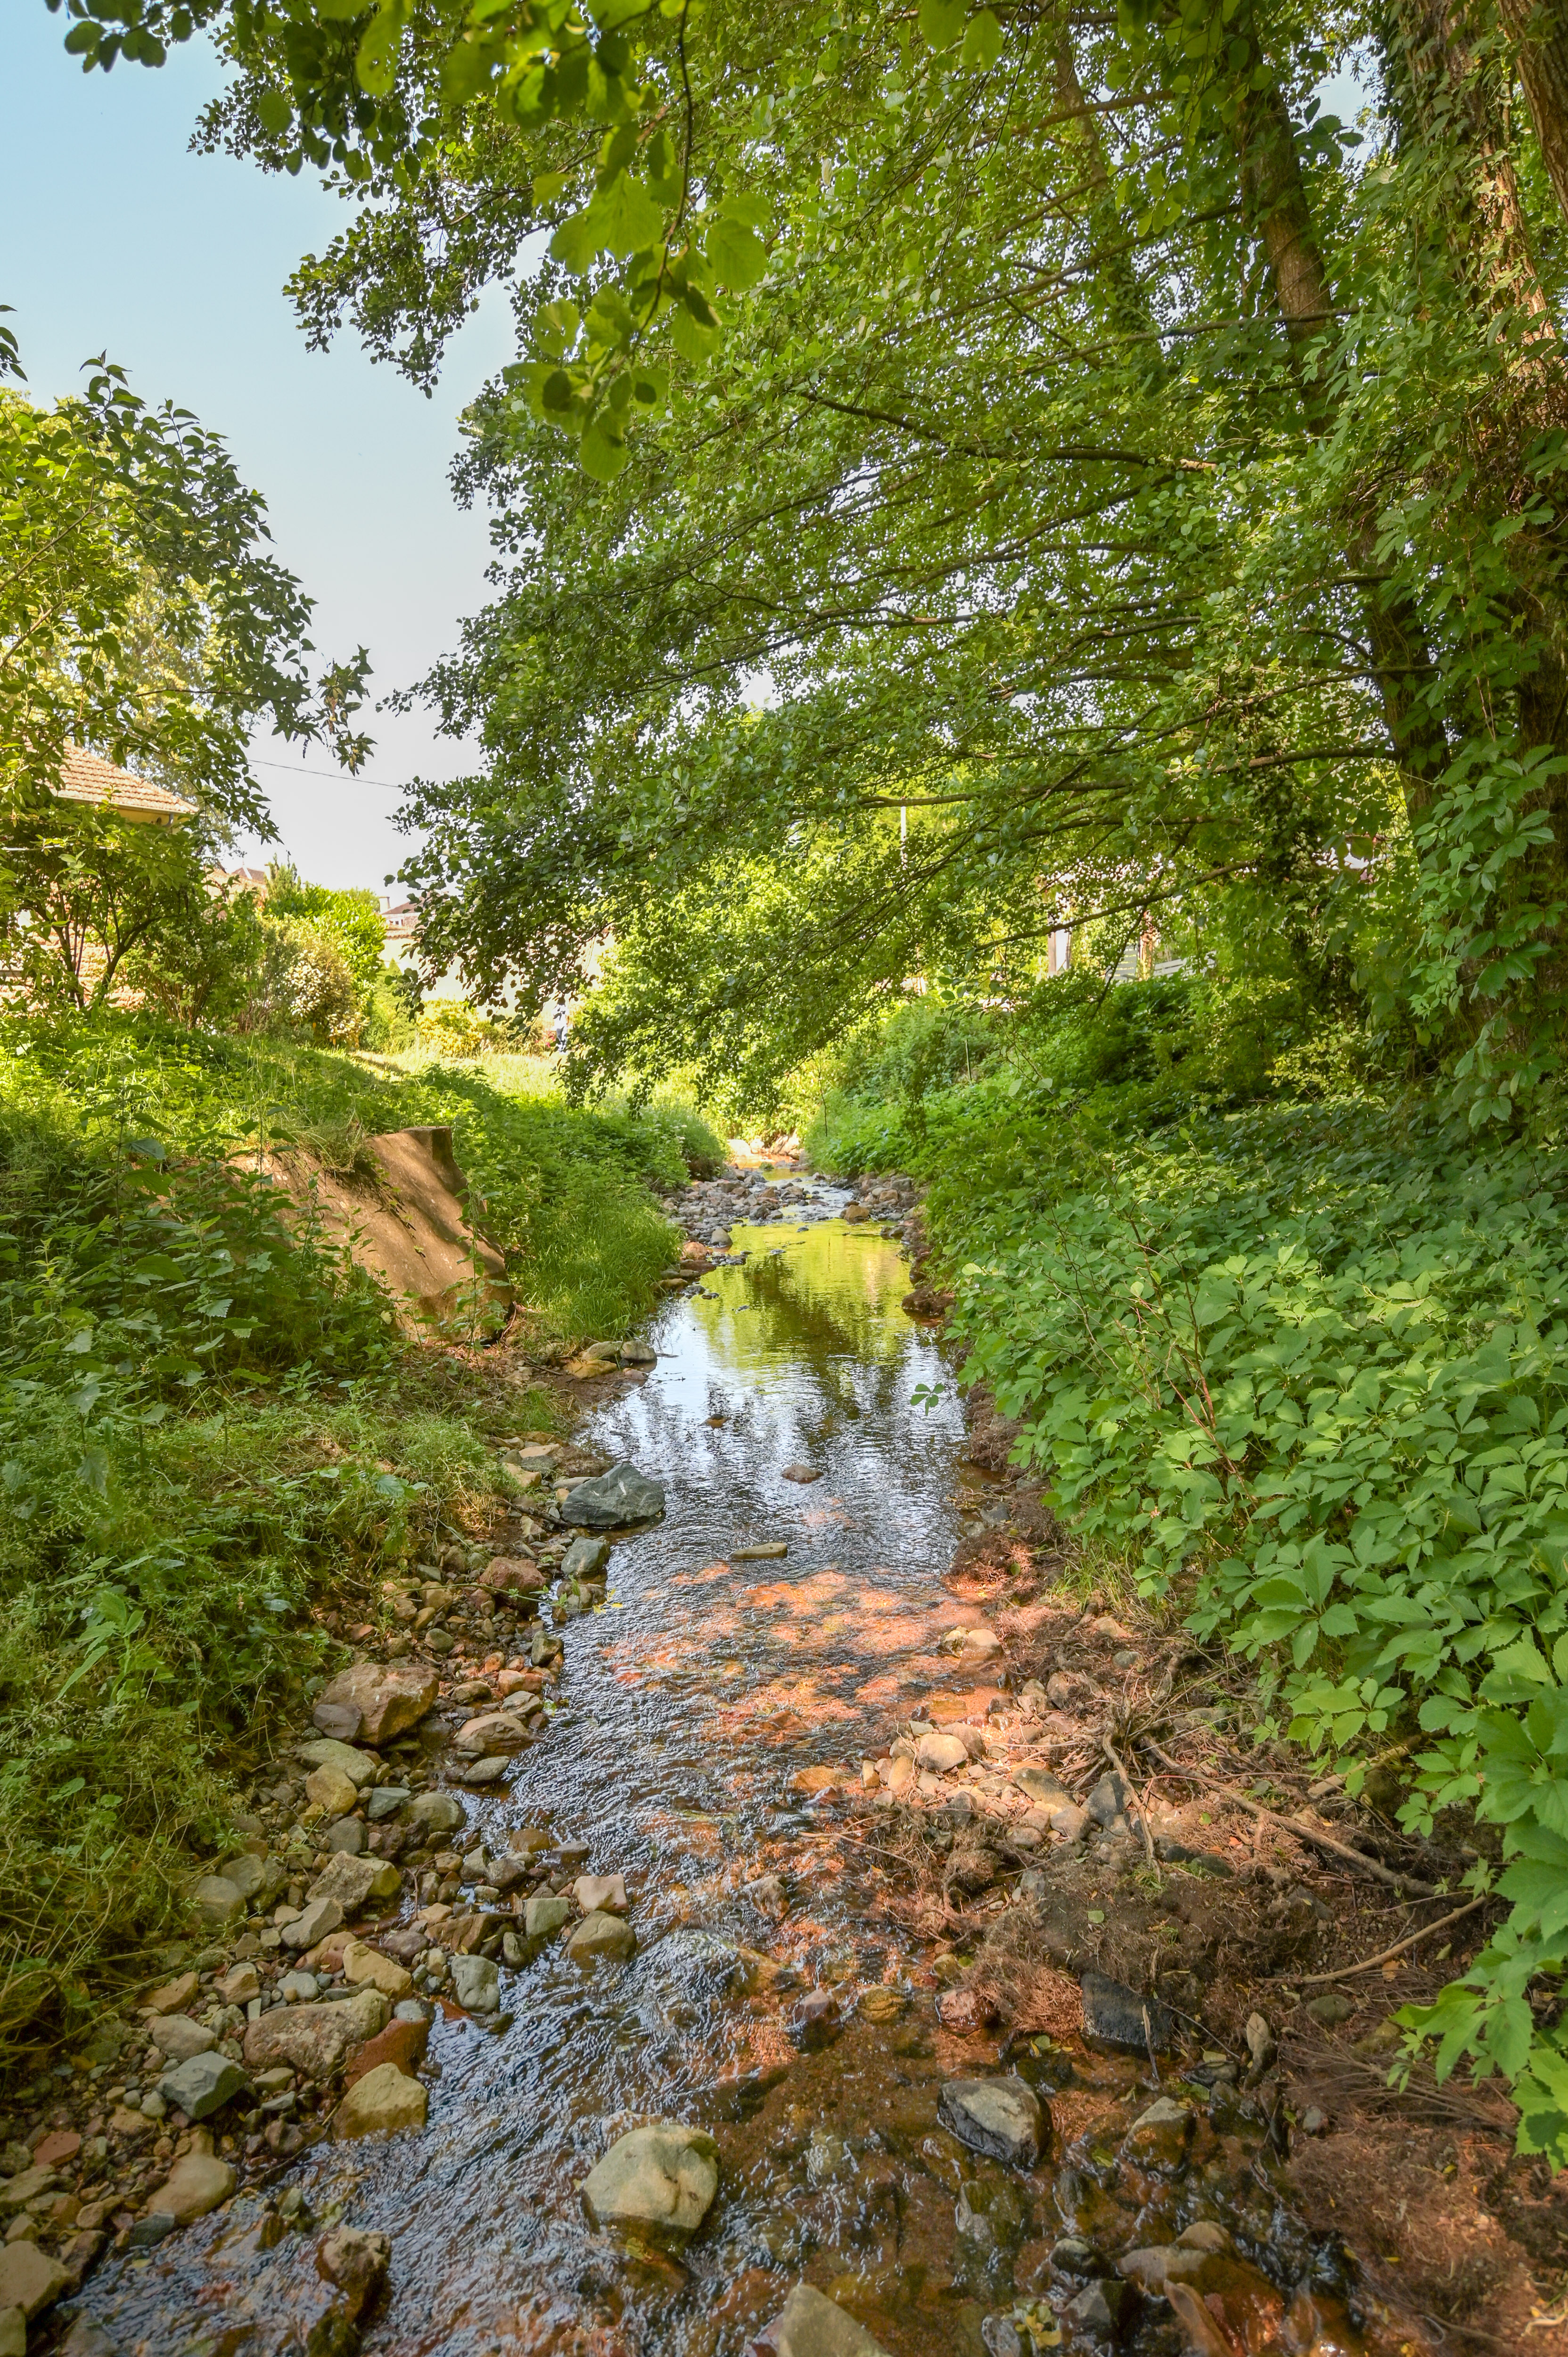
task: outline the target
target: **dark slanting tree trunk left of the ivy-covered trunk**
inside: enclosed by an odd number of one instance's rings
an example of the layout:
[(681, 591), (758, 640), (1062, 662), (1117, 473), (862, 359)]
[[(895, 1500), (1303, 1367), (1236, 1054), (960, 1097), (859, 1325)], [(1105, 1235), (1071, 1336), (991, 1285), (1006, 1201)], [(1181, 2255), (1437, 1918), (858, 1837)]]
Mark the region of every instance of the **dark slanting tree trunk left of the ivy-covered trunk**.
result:
[[(1306, 181), (1278, 87), (1250, 90), (1240, 106), (1243, 200), (1273, 276), (1273, 295), (1302, 387), (1306, 424), (1325, 436), (1342, 394), (1325, 372), (1335, 297), (1313, 236)], [(1363, 507), (1346, 516), (1346, 556), (1361, 582), (1361, 610), (1384, 721), (1405, 773), (1405, 806), (1419, 816), (1448, 766), (1448, 735), (1436, 709), (1436, 665), (1410, 596), (1377, 577), (1377, 519)]]

